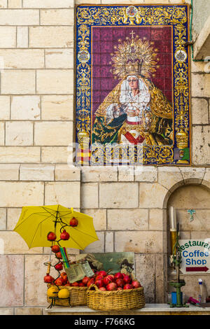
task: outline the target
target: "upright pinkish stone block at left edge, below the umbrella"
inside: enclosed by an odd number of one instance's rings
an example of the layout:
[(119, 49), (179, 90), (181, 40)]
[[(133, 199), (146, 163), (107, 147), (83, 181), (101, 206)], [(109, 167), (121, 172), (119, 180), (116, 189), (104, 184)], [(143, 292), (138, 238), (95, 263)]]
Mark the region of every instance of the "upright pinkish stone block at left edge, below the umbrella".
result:
[[(22, 307), (24, 300), (24, 256), (23, 255), (0, 255), (1, 281), (1, 307)], [(11, 314), (6, 309), (1, 314)]]

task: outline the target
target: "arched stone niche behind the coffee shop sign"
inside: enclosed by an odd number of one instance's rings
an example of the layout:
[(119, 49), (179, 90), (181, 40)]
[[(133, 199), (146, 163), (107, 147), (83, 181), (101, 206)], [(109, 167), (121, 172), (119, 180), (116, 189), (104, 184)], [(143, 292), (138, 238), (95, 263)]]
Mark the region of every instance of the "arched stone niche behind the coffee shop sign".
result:
[[(167, 195), (167, 284), (165, 287), (167, 292), (175, 291), (169, 286), (169, 281), (176, 279), (173, 268), (169, 266), (169, 255), (171, 251), (170, 233), (169, 233), (169, 207), (176, 209), (176, 218), (179, 221), (181, 239), (206, 239), (210, 238), (210, 189), (209, 182), (196, 179), (188, 179), (182, 186), (173, 188), (173, 192)], [(190, 221), (189, 209), (195, 209), (194, 220)], [(188, 297), (192, 296), (196, 299), (199, 295), (198, 279), (204, 281), (204, 295), (210, 295), (210, 275), (209, 274), (181, 274), (181, 279), (186, 281), (186, 286), (181, 291)]]

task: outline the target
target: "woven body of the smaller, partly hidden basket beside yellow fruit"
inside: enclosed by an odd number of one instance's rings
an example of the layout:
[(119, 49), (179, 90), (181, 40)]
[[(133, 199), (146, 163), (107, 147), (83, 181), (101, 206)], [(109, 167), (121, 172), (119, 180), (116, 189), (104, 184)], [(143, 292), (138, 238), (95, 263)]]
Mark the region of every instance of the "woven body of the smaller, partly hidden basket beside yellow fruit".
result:
[[(48, 284), (48, 288), (52, 285)], [(60, 289), (66, 288), (70, 291), (70, 304), (71, 306), (86, 305), (87, 287), (71, 287), (59, 286)], [(48, 297), (48, 303), (51, 303), (51, 298)], [(59, 298), (55, 300), (56, 306), (69, 306), (68, 298)]]

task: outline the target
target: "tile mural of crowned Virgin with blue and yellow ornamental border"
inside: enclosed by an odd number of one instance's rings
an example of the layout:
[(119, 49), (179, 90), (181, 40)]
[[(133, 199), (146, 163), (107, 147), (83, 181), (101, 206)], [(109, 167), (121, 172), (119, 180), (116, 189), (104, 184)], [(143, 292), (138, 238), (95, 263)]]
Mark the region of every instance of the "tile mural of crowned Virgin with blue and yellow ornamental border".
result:
[[(75, 16), (75, 164), (191, 165), (189, 6), (80, 5)], [(135, 76), (144, 114), (130, 122), (122, 92)]]

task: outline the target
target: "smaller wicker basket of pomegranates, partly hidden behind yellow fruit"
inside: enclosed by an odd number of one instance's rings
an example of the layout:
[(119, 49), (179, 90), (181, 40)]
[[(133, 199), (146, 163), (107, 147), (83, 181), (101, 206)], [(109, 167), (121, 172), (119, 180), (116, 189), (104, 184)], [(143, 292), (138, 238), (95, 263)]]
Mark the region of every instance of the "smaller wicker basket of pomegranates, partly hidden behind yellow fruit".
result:
[[(62, 274), (61, 274), (62, 275)], [(69, 283), (66, 276), (61, 276), (57, 280), (55, 280), (54, 284), (48, 283), (48, 288), (53, 286), (58, 286), (58, 289), (68, 289), (69, 297), (70, 297), (70, 305), (71, 306), (82, 306), (86, 305), (86, 295), (87, 295), (87, 283), (90, 281), (90, 278), (86, 276), (83, 280), (79, 282)], [(52, 297), (52, 296), (51, 296)], [(50, 303), (50, 296), (48, 295), (48, 302)], [(56, 306), (69, 306), (69, 300), (67, 299), (57, 299), (55, 300)]]

